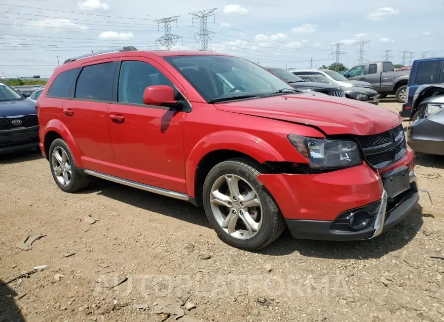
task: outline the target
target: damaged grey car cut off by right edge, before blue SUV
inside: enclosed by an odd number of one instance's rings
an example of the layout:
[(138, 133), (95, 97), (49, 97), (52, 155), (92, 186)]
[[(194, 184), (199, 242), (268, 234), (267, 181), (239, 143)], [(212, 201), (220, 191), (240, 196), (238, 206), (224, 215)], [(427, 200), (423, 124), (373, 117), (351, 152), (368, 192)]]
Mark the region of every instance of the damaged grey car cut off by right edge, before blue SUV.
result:
[(444, 84), (421, 85), (414, 96), (408, 145), (414, 152), (444, 155)]

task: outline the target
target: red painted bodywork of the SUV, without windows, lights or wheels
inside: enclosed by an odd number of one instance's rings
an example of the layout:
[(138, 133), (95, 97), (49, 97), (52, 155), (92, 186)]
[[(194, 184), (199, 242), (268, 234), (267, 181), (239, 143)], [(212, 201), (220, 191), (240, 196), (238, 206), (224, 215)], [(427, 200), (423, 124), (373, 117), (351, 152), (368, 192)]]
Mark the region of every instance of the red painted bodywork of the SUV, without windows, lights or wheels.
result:
[[(105, 54), (55, 69), (39, 98), (40, 147), (48, 131), (68, 143), (79, 168), (195, 197), (196, 169), (213, 151), (232, 150), (256, 161), (307, 163), (288, 141), (289, 134), (308, 137), (371, 135), (401, 123), (384, 108), (357, 100), (312, 94), (286, 94), (209, 104), (162, 57), (221, 55), (158, 51)], [(221, 55), (224, 56), (224, 55)], [(157, 67), (184, 95), (190, 112), (117, 102), (46, 97), (62, 71), (107, 61), (136, 60)], [(73, 111), (67, 116), (63, 109)], [(380, 170), (414, 166), (413, 153)], [(367, 164), (321, 174), (261, 174), (258, 179), (276, 199), (287, 219), (333, 220), (345, 210), (381, 198), (380, 173)]]

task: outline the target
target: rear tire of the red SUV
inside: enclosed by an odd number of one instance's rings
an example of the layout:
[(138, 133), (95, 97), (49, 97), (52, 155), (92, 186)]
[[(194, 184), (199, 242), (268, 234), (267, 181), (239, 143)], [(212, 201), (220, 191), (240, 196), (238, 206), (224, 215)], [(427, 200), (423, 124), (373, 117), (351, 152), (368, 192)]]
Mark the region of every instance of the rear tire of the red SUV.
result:
[[(63, 152), (66, 153), (66, 161), (69, 161), (70, 171), (71, 175), (68, 176), (69, 182), (68, 184), (63, 184), (61, 180), (59, 180), (59, 177), (56, 175), (54, 171), (55, 164), (61, 164), (60, 161), (56, 161), (54, 156), (54, 151), (56, 151), (57, 154), (59, 154), (61, 157), (63, 156)], [(54, 159), (55, 158), (55, 159)], [(63, 157), (62, 157), (63, 158)], [(88, 185), (88, 177), (86, 175), (81, 174), (77, 166), (75, 165), (73, 154), (71, 153), (70, 148), (68, 147), (68, 144), (62, 139), (55, 139), (51, 146), (49, 147), (49, 168), (51, 169), (52, 177), (54, 178), (55, 183), (59, 188), (66, 192), (66, 193), (74, 193), (76, 191), (79, 191), (81, 189), (84, 189)], [(68, 162), (64, 163), (64, 170), (68, 170)], [(64, 172), (63, 172), (64, 173)], [(61, 174), (62, 177), (64, 177), (63, 174)], [(66, 183), (66, 182), (65, 182)]]

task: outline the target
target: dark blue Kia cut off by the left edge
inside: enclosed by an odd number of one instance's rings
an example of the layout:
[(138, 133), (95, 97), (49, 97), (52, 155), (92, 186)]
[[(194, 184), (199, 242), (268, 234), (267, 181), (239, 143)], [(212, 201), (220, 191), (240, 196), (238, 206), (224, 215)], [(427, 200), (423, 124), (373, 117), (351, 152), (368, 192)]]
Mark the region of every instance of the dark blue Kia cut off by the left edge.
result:
[(0, 154), (38, 148), (34, 102), (0, 82)]

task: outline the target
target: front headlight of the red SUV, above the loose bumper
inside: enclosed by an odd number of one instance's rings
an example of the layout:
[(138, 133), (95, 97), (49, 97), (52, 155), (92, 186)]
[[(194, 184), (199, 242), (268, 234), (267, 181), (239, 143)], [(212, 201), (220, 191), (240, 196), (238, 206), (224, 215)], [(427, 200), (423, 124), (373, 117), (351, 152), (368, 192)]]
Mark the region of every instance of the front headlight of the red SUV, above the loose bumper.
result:
[(315, 139), (290, 134), (289, 141), (315, 169), (347, 168), (362, 164), (358, 145), (347, 140)]

